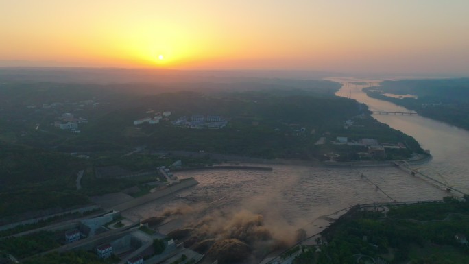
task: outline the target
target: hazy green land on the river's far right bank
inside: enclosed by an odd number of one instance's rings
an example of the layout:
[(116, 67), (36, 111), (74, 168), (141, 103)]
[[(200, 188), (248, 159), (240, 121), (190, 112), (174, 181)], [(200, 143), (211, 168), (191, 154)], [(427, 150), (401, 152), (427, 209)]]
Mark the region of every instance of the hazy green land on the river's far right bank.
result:
[[(391, 101), (436, 119), (469, 130), (469, 79), (385, 81), (380, 87), (365, 89), (370, 97)], [(418, 98), (393, 98), (383, 95), (416, 95)]]

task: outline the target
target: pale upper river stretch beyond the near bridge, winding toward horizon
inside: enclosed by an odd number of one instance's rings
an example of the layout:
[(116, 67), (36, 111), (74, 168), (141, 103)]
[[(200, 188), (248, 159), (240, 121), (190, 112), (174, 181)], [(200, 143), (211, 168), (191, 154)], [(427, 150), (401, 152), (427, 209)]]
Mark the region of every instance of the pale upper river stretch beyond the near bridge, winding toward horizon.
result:
[[(336, 93), (338, 96), (349, 97), (366, 104), (372, 111), (412, 112), (396, 104), (368, 97), (362, 88), (375, 85), (379, 80), (334, 79), (343, 84)], [(367, 85), (355, 85), (353, 82), (370, 82)], [(379, 115), (373, 117), (381, 123), (413, 136), (428, 149), (433, 156), (430, 163), (421, 171), (438, 180), (443, 177), (450, 186), (469, 193), (469, 132), (440, 121), (420, 116)]]

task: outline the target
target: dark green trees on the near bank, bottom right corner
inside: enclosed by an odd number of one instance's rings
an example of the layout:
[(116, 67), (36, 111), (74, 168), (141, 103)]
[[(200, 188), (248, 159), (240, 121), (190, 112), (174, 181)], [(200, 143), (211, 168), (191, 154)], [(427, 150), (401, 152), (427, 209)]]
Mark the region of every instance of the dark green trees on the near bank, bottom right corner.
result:
[[(467, 197), (466, 197), (467, 198)], [(469, 202), (392, 206), (387, 213), (357, 211), (324, 231), (320, 252), (308, 248), (300, 263), (468, 263), (469, 246), (456, 235), (469, 234)]]

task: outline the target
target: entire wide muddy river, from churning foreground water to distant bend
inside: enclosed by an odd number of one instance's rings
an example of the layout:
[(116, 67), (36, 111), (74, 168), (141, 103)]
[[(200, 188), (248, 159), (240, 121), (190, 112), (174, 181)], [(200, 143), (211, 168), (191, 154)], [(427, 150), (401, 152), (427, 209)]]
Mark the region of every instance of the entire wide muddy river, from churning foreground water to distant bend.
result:
[[(370, 110), (407, 111), (368, 97), (361, 91), (363, 86), (351, 83), (357, 80), (335, 81), (344, 84), (337, 95), (350, 96), (367, 104)], [(374, 118), (415, 137), (424, 149), (430, 150), (433, 160), (420, 166), (419, 171), (435, 178), (441, 175), (453, 187), (469, 192), (469, 178), (466, 176), (469, 171), (466, 161), (469, 157), (468, 131), (419, 116), (374, 115)], [(365, 177), (361, 177), (361, 173)], [(305, 228), (311, 234), (315, 232), (314, 228), (308, 228), (312, 226), (309, 225), (311, 221), (354, 204), (392, 202), (392, 199), (440, 200), (448, 195), (396, 167), (274, 165), (273, 171), (187, 171), (178, 172), (176, 176), (194, 177), (200, 184), (178, 193), (176, 199), (145, 204), (126, 215), (145, 219), (178, 206), (204, 208), (203, 213), (247, 211), (263, 215), (273, 232), (278, 232), (279, 228)], [(373, 184), (383, 191), (376, 190)]]

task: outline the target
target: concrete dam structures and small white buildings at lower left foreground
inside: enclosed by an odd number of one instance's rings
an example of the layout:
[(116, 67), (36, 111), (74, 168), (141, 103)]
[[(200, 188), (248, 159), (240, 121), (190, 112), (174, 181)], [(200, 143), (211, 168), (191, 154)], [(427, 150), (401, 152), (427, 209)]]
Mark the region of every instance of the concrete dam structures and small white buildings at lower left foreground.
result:
[(118, 211), (75, 221), (68, 230), (63, 230), (65, 227), (70, 225), (53, 230), (63, 234), (63, 245), (56, 249), (60, 252), (87, 250), (95, 252), (99, 259), (122, 264), (195, 263), (203, 257), (148, 224), (123, 218)]

